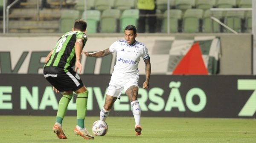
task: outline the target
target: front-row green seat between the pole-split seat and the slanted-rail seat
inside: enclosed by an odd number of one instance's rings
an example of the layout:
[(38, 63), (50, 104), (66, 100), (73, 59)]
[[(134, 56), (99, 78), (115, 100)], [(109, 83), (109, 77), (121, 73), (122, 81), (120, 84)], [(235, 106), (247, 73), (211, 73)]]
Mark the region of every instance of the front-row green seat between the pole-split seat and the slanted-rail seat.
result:
[(200, 31), (200, 20), (203, 17), (202, 9), (187, 9), (183, 17), (183, 32), (197, 33)]

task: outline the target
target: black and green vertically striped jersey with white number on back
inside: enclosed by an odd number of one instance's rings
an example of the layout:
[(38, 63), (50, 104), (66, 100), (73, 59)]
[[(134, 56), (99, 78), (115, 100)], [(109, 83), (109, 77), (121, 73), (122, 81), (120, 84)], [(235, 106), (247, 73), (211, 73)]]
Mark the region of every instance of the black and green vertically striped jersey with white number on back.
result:
[(52, 51), (52, 55), (48, 62), (44, 65), (46, 66), (58, 66), (67, 72), (67, 69), (75, 66), (76, 53), (75, 53), (75, 43), (78, 38), (84, 40), (84, 45), (87, 41), (87, 36), (81, 31), (70, 31), (61, 36), (58, 40), (55, 48)]

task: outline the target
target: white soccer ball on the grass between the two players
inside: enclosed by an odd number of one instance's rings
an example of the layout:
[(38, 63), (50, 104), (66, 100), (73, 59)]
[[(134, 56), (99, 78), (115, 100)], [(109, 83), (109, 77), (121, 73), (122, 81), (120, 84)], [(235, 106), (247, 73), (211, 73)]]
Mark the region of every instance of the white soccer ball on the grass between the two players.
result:
[(102, 120), (97, 120), (93, 123), (92, 131), (95, 136), (104, 136), (108, 132), (108, 124)]

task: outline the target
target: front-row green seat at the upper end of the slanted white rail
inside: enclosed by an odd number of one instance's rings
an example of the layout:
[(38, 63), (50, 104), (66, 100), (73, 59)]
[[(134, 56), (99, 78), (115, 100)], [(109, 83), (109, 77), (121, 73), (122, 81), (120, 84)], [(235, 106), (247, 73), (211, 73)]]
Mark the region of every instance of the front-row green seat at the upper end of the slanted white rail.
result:
[(221, 20), (222, 11), (211, 11), (208, 9), (204, 12), (203, 16), (203, 32), (205, 33), (219, 33), (220, 30), (220, 24), (216, 21), (211, 19), (211, 16), (217, 18), (218, 20)]

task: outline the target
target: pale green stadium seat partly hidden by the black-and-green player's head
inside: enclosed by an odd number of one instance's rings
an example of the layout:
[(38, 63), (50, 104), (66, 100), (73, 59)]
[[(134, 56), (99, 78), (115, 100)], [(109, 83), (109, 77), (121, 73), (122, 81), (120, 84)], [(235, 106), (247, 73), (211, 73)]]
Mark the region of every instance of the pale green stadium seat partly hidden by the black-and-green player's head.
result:
[(60, 32), (71, 31), (75, 20), (79, 19), (78, 10), (63, 10), (60, 18)]

